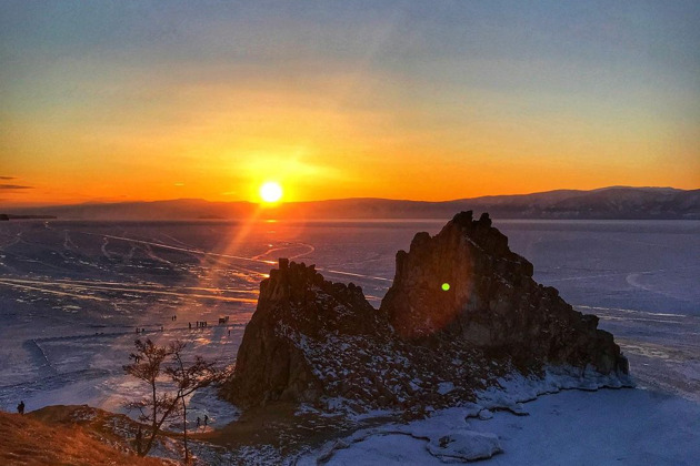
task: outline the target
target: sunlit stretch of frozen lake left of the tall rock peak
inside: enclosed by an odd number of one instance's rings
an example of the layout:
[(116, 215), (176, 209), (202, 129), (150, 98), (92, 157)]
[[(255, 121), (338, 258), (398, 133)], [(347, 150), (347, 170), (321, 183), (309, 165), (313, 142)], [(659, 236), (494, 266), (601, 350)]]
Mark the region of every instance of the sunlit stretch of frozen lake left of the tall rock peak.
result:
[[(396, 249), (424, 226), (3, 223), (0, 408), (24, 399), (28, 411), (64, 403), (120, 411), (144, 389), (121, 368), (137, 337), (179, 338), (191, 355), (232, 363), (259, 283), (279, 256), (317, 263), (378, 304)], [(220, 316), (229, 322), (218, 325)], [(209, 325), (198, 328), (198, 321)]]

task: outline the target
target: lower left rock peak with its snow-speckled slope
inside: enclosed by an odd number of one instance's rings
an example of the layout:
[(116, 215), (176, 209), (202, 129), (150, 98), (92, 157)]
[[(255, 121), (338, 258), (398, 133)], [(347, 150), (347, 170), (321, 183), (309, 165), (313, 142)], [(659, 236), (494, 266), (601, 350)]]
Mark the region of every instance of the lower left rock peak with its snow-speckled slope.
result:
[(312, 265), (280, 260), (260, 285), (222, 393), (243, 407), (339, 398), (359, 409), (449, 405), (486, 386), (477, 376), (484, 361), (459, 342), (439, 348), (404, 342), (359, 286), (331, 283)]

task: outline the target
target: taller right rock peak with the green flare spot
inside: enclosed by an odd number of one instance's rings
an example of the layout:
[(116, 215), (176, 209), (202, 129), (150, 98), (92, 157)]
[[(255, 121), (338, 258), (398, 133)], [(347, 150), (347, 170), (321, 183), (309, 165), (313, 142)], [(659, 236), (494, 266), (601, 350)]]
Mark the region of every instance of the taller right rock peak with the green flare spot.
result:
[(408, 253), (399, 251), (381, 311), (417, 344), (457, 338), (519, 365), (592, 364), (602, 374), (627, 373), (612, 335), (597, 330), (598, 317), (573, 311), (532, 272), (488, 214), (474, 221), (462, 212), (436, 236), (419, 233)]

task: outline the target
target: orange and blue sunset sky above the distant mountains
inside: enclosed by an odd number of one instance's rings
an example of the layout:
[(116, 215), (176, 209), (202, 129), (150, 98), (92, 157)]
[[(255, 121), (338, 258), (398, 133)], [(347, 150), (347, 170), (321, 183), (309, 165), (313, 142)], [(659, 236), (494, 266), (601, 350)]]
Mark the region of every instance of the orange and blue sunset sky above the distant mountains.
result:
[(700, 188), (700, 2), (0, 1), (0, 205)]

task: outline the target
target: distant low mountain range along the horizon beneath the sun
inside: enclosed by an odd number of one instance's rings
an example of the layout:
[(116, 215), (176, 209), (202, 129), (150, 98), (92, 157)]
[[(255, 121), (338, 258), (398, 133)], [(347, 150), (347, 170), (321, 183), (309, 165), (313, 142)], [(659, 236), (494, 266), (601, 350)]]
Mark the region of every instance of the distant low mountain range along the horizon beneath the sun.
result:
[(489, 212), (494, 219), (700, 220), (700, 190), (612, 186), (592, 191), (558, 190), (443, 202), (340, 199), (291, 202), (274, 207), (250, 202), (179, 199), (153, 202), (89, 203), (9, 209), (13, 215), (81, 220), (236, 220), (262, 219), (449, 219), (460, 211)]

